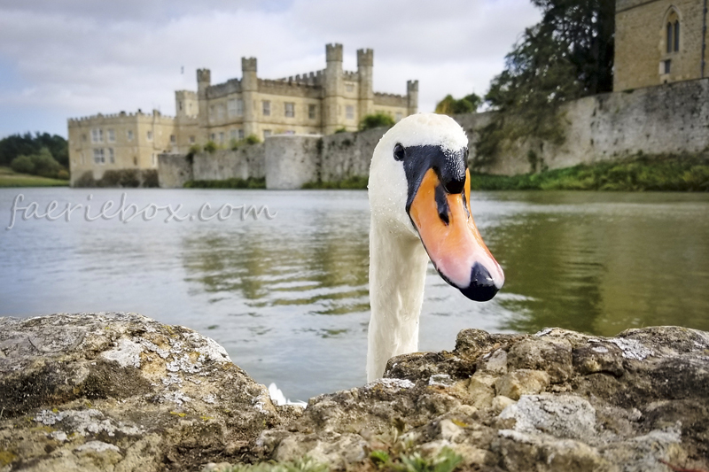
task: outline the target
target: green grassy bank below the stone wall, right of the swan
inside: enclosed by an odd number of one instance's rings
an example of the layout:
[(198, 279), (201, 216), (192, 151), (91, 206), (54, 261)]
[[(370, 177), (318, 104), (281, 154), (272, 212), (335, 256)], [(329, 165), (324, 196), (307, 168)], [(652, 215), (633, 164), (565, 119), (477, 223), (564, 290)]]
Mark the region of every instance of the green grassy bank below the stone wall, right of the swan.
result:
[(709, 191), (709, 155), (639, 156), (541, 174), (471, 174), (471, 189)]

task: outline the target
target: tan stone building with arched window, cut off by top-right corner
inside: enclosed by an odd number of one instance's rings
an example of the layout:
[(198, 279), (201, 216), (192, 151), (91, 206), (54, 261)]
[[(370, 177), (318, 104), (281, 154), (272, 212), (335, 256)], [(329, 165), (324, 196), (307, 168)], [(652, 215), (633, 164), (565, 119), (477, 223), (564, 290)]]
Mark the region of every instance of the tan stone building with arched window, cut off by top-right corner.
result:
[(613, 90), (701, 79), (705, 0), (616, 0)]

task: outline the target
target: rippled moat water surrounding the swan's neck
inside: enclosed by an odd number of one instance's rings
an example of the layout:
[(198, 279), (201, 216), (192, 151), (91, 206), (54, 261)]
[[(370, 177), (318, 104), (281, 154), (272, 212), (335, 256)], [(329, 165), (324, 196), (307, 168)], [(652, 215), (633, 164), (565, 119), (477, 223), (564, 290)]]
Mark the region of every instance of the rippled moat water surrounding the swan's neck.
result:
[[(0, 189), (118, 204), (121, 190)], [(88, 200), (88, 196), (92, 199)], [(464, 328), (547, 326), (612, 336), (659, 324), (709, 330), (709, 195), (482, 192), (473, 213), (506, 285), (474, 303), (429, 268), (422, 350)], [(369, 209), (364, 191), (128, 190), (140, 208), (268, 205), (269, 220), (22, 221), (0, 230), (0, 315), (132, 311), (213, 337), (260, 383), (307, 399), (365, 382)], [(113, 213), (109, 212), (109, 213)]]

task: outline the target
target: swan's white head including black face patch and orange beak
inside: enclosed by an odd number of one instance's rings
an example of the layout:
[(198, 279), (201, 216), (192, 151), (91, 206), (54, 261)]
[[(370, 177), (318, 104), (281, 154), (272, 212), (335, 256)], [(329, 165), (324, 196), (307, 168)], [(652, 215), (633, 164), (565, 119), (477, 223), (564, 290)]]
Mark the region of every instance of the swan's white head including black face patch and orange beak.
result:
[(400, 120), (372, 156), (372, 224), (419, 239), (446, 282), (487, 301), (504, 274), (472, 218), (467, 160), (468, 138), (452, 118), (417, 113)]

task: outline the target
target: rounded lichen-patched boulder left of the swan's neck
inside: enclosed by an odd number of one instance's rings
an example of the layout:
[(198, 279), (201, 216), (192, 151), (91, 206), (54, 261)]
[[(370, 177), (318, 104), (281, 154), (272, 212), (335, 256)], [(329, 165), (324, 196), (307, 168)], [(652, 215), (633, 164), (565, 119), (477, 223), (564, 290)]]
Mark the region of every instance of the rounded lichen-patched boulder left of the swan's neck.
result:
[(280, 421), (222, 346), (134, 313), (0, 318), (0, 470), (197, 468)]

